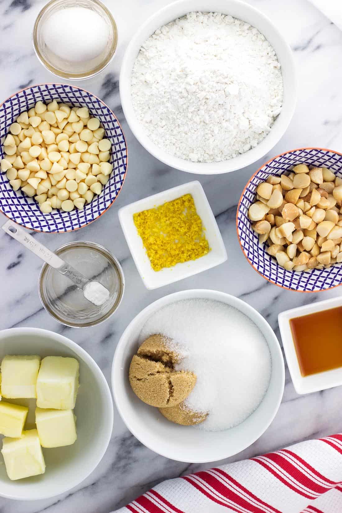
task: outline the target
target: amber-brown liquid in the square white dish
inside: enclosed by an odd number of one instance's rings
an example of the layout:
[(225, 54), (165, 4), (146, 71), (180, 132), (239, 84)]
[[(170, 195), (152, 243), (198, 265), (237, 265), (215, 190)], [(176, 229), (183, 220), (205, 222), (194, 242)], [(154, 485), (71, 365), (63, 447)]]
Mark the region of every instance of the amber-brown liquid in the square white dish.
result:
[(290, 319), (302, 376), (342, 367), (342, 306)]

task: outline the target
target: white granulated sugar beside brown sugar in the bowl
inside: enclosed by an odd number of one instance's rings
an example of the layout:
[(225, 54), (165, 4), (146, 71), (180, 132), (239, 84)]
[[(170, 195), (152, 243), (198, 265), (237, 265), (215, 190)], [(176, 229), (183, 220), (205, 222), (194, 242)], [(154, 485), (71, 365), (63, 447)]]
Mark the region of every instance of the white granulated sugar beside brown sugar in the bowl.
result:
[(225, 303), (186, 300), (154, 313), (140, 342), (154, 333), (173, 340), (184, 357), (177, 370), (191, 370), (197, 382), (185, 400), (193, 411), (209, 412), (196, 426), (208, 431), (243, 422), (263, 400), (271, 377), (271, 356), (259, 328)]

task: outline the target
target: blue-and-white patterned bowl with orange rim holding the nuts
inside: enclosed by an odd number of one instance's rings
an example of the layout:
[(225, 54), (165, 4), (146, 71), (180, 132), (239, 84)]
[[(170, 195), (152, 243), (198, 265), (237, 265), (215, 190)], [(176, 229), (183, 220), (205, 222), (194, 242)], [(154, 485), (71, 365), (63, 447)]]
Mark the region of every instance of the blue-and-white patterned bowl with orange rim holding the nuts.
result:
[(260, 244), (258, 235), (248, 219), (248, 209), (253, 203), (256, 188), (269, 174), (280, 175), (292, 166), (305, 163), (327, 167), (342, 178), (342, 154), (325, 148), (299, 148), (277, 155), (256, 171), (246, 185), (237, 206), (236, 230), (240, 246), (251, 266), (271, 283), (299, 292), (319, 292), (342, 283), (342, 264), (312, 272), (287, 271), (267, 252), (267, 244)]

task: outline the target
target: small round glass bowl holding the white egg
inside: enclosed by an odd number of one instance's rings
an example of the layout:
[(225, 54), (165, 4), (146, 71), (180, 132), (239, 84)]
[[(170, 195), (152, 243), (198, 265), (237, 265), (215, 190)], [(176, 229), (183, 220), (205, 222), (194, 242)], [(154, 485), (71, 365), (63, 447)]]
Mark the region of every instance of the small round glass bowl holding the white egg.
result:
[[(105, 52), (96, 60), (84, 63), (65, 62), (52, 53), (46, 46), (43, 38), (43, 26), (51, 14), (68, 7), (85, 7), (97, 12), (106, 22), (110, 37)], [(51, 0), (41, 12), (34, 23), (32, 32), (33, 48), (39, 61), (54, 75), (68, 80), (84, 80), (103, 71), (114, 57), (117, 47), (117, 28), (110, 11), (98, 0)]]

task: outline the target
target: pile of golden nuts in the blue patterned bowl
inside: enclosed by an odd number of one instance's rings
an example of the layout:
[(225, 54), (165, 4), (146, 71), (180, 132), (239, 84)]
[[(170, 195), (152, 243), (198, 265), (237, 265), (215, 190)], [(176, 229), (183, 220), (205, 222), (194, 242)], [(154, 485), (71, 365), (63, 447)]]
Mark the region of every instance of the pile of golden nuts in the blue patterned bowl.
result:
[(248, 216), (267, 252), (287, 270), (342, 262), (342, 179), (325, 167), (294, 166), (256, 189)]

